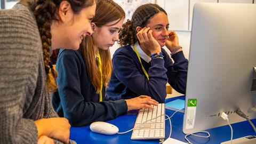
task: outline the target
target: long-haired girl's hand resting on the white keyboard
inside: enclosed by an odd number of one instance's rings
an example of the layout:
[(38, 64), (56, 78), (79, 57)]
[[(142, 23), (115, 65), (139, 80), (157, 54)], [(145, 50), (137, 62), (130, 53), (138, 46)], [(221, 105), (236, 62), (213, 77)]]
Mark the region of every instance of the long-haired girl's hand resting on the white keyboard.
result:
[(153, 109), (151, 105), (157, 106), (158, 102), (154, 99), (146, 95), (140, 95), (140, 97), (127, 99), (125, 100), (127, 103), (128, 111), (134, 109), (142, 109), (142, 108), (149, 108)]

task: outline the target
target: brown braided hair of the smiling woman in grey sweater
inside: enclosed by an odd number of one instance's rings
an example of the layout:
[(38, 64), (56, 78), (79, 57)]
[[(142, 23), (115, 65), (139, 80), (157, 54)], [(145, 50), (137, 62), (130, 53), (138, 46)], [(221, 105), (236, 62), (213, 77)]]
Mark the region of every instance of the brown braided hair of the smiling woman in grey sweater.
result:
[[(58, 20), (54, 17), (61, 0), (23, 0), (22, 3), (29, 3), (31, 10), (34, 12), (39, 33), (42, 39), (43, 46), (43, 58), (46, 71), (46, 90), (48, 92), (55, 92), (57, 90), (57, 84), (55, 78), (57, 78), (57, 71), (52, 66), (50, 60), (51, 50), (51, 25), (53, 20)], [(82, 9), (92, 6), (97, 0), (67, 0), (75, 14), (81, 12)]]

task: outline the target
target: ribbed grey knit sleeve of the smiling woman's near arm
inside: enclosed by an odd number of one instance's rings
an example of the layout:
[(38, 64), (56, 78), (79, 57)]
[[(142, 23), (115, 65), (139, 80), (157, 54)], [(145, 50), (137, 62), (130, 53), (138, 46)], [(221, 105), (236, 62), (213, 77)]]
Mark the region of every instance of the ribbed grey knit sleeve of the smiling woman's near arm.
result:
[(9, 17), (12, 13), (0, 11), (0, 143), (37, 143), (37, 127), (23, 113), (33, 100), (38, 73), (38, 54), (29, 47), (38, 45), (29, 43), (35, 35), (24, 33), (29, 27), (13, 27), (25, 20)]

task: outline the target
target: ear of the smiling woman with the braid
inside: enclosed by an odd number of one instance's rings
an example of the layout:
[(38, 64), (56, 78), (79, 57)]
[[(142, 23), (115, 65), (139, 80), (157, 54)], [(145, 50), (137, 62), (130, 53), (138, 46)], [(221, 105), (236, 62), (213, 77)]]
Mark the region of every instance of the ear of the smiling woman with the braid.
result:
[(60, 21), (66, 22), (73, 18), (73, 10), (68, 1), (61, 1), (58, 9), (58, 16)]

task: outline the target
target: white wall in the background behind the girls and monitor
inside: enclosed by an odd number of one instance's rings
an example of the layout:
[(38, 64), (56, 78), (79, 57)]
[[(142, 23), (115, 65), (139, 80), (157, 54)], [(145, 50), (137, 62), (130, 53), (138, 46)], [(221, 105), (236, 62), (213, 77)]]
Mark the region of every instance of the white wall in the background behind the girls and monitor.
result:
[[(218, 0), (114, 0), (122, 7), (127, 8), (127, 4), (134, 4), (138, 7), (140, 4), (145, 4), (146, 2), (154, 3), (163, 7), (168, 14), (168, 19), (170, 22), (170, 28), (174, 29), (179, 36), (179, 43), (183, 47), (183, 53), (185, 57), (189, 58), (189, 45), (190, 45), (190, 34), (191, 34), (191, 22), (193, 15), (193, 7), (197, 2), (208, 2), (208, 3), (217, 3)], [(17, 2), (7, 2), (5, 3), (5, 9), (11, 9), (12, 6)], [(219, 0), (219, 3), (253, 3), (253, 0)], [(254, 0), (256, 3), (256, 0)], [(123, 6), (123, 5), (126, 6)], [(128, 9), (125, 9), (129, 11)], [(130, 12), (129, 18), (131, 17), (132, 12)], [(127, 17), (128, 18), (128, 17)], [(110, 47), (111, 55), (114, 54), (119, 45), (116, 43), (113, 47)], [(167, 52), (169, 50), (164, 47)], [(170, 52), (169, 52), (170, 53)]]

